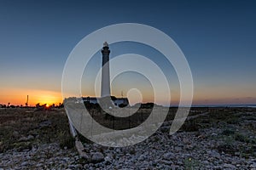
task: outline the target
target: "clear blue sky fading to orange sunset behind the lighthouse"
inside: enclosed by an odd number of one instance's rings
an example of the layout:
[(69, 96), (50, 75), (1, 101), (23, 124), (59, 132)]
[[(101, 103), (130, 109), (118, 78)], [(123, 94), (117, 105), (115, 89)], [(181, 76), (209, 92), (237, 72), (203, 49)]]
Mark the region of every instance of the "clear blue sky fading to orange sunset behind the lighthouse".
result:
[[(29, 105), (61, 102), (62, 71), (73, 48), (92, 31), (119, 23), (153, 26), (172, 37), (189, 62), (194, 104), (256, 104), (255, 11), (255, 1), (249, 0), (1, 0), (0, 104), (24, 105), (26, 95)], [(135, 53), (154, 60), (168, 79), (173, 103), (178, 102), (177, 75), (162, 54), (134, 42), (110, 44), (109, 48), (110, 59)], [(93, 80), (102, 65), (100, 50), (84, 70), (84, 96), (95, 94)], [(116, 96), (138, 88), (143, 102), (153, 99), (150, 82), (139, 74), (124, 73), (114, 79), (111, 88)]]

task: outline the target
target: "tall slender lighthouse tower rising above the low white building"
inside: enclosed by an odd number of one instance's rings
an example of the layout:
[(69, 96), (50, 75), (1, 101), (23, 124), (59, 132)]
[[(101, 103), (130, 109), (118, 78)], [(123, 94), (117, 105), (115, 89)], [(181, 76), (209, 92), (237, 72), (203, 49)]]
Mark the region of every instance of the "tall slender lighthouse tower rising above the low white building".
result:
[(102, 93), (101, 97), (110, 96), (110, 80), (109, 80), (109, 54), (108, 42), (103, 43), (102, 48)]

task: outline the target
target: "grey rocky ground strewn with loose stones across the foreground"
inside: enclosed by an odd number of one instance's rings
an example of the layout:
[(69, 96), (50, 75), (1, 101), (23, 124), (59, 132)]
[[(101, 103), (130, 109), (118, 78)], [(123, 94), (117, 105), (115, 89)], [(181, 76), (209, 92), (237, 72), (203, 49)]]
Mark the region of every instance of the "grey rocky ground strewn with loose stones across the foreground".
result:
[(255, 114), (250, 109), (212, 110), (173, 135), (165, 123), (150, 138), (125, 148), (84, 141), (87, 158), (60, 143), (33, 143), (3, 150), (0, 169), (256, 169)]

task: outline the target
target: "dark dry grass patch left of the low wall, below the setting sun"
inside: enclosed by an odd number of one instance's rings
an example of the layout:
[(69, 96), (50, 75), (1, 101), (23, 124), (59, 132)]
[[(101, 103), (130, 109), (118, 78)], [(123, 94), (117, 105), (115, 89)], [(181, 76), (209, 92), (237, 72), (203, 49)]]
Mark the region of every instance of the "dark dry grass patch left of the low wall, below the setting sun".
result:
[[(29, 138), (29, 139), (28, 139)], [(14, 108), (0, 110), (0, 152), (31, 149), (32, 145), (59, 143), (73, 146), (67, 116), (63, 109), (34, 111)]]

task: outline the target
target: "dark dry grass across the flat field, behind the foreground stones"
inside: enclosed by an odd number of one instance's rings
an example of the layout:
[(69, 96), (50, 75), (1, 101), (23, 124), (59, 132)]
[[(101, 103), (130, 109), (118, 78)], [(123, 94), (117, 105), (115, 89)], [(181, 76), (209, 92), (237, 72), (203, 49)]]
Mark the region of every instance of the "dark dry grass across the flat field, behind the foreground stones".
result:
[[(124, 129), (136, 127), (149, 116), (151, 109), (141, 109), (130, 118), (106, 118), (100, 111), (94, 111), (94, 118), (97, 122), (105, 127), (115, 129)], [(166, 121), (173, 120), (177, 108), (170, 108), (166, 117)], [(256, 109), (250, 108), (193, 108), (189, 116), (209, 112), (207, 116), (198, 117), (191, 121), (186, 121), (181, 130), (197, 131), (204, 127), (220, 127), (224, 129), (220, 138), (228, 136), (229, 139), (239, 141), (246, 146), (250, 145), (250, 149), (255, 150), (256, 141), (247, 138), (247, 133), (255, 136), (255, 120)], [(247, 114), (249, 113), (249, 114)], [(242, 123), (246, 122), (246, 123)], [(48, 124), (47, 124), (48, 123)], [(45, 126), (43, 126), (46, 124)], [(241, 127), (247, 133), (234, 133), (229, 126)], [(28, 136), (32, 139), (21, 140)], [(82, 137), (80, 136), (82, 139)], [(84, 139), (85, 141), (86, 139)], [(73, 138), (69, 133), (67, 116), (64, 109), (55, 109), (54, 111), (34, 111), (34, 109), (25, 108), (9, 108), (0, 109), (0, 152), (9, 149), (26, 150), (31, 149), (32, 145), (45, 143), (59, 143), (61, 148), (73, 147)], [(89, 141), (87, 141), (89, 142)], [(227, 142), (228, 143), (228, 142)], [(219, 145), (218, 150), (230, 150), (229, 144)], [(227, 151), (228, 152), (228, 151)]]

